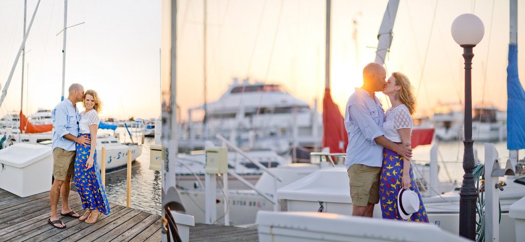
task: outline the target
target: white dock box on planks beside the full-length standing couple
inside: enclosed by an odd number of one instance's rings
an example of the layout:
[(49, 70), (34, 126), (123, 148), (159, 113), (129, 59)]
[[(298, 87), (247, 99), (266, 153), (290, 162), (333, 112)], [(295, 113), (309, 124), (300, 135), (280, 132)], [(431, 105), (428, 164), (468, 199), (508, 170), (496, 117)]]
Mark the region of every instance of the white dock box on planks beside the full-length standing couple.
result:
[(50, 146), (14, 144), (0, 150), (0, 188), (20, 197), (51, 189), (53, 153)]

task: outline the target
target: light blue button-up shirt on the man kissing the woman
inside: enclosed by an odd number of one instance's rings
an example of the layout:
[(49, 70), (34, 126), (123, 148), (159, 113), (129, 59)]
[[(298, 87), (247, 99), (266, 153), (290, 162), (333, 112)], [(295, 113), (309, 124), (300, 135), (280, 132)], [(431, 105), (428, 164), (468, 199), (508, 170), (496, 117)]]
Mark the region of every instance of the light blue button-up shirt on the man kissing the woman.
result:
[(375, 138), (383, 134), (385, 113), (376, 96), (356, 88), (348, 98), (344, 114), (344, 126), (348, 133), (348, 146), (344, 164), (346, 170), (353, 164), (381, 167), (383, 147), (375, 144)]

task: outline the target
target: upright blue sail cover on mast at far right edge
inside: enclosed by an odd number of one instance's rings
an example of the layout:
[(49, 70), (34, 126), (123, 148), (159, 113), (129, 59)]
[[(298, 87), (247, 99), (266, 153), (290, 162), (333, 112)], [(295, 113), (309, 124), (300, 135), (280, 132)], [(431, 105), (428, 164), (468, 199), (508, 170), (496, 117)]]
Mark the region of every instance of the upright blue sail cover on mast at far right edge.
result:
[(525, 91), (518, 78), (517, 45), (509, 45), (507, 95), (507, 149), (525, 149)]

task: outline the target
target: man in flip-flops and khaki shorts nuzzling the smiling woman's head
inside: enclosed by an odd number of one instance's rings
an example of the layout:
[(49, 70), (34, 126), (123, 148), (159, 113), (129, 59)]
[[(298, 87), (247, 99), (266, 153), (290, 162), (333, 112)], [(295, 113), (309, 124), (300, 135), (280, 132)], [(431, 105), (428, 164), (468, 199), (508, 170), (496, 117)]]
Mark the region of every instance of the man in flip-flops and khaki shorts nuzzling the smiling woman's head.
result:
[(69, 207), (68, 198), (71, 188), (71, 177), (74, 173), (76, 149), (75, 143), (90, 144), (89, 138), (78, 136), (78, 121), (80, 115), (76, 104), (82, 102), (84, 87), (74, 83), (69, 86), (69, 96), (60, 102), (51, 115), (53, 116), (53, 177), (55, 178), (49, 199), (51, 202), (51, 217), (48, 223), (56, 228), (65, 228), (57, 214), (57, 204), (62, 196), (62, 216), (79, 218), (80, 215)]

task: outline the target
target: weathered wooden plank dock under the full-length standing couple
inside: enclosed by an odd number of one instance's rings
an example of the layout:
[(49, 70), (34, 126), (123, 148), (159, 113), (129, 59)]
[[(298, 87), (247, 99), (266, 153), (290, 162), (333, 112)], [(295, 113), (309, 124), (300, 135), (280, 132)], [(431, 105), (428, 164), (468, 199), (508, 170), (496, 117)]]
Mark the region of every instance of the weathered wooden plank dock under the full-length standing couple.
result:
[[(161, 216), (111, 204), (111, 213), (95, 224), (58, 215), (66, 224), (48, 224), (49, 192), (19, 197), (0, 189), (0, 241), (160, 241)], [(69, 193), (69, 206), (82, 215), (80, 197)], [(61, 201), (58, 203), (60, 213)]]

